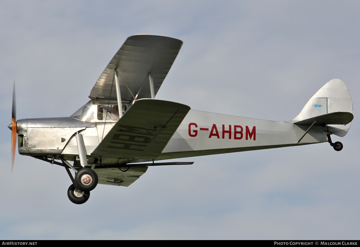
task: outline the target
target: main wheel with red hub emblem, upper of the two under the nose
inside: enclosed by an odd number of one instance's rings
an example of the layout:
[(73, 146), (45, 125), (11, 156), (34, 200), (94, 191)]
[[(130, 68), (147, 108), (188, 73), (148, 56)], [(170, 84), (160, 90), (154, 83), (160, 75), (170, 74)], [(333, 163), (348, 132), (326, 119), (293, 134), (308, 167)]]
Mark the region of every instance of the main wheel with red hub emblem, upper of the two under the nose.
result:
[(82, 191), (91, 191), (98, 185), (98, 174), (89, 168), (83, 168), (76, 172), (74, 185)]

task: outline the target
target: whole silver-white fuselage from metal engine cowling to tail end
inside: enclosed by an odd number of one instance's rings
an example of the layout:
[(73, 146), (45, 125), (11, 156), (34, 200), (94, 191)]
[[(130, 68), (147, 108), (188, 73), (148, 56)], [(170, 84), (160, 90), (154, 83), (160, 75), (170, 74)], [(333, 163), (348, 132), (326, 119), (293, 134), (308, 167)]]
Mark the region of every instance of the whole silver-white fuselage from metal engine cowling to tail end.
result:
[[(18, 120), (19, 153), (76, 160), (78, 149), (74, 135), (79, 132), (84, 136), (89, 163), (98, 161), (99, 157), (91, 153), (116, 120), (99, 121), (95, 111), (93, 114), (93, 121), (73, 117)], [(314, 126), (301, 139), (307, 128), (291, 121), (258, 120), (190, 110), (155, 160), (327, 142), (327, 128), (322, 126)], [(107, 164), (119, 162), (119, 157), (101, 158)], [(121, 162), (137, 161), (125, 159)]]

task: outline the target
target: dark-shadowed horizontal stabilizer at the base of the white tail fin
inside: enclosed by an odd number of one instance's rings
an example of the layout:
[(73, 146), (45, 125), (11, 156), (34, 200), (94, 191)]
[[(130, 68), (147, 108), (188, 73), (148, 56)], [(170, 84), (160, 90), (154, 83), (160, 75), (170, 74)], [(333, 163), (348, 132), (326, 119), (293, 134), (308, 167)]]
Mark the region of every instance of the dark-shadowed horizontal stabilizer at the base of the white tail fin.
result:
[(339, 124), (339, 125), (346, 125), (352, 121), (354, 115), (350, 112), (332, 112), (328, 114), (323, 114), (320, 116), (307, 118), (305, 120), (301, 120), (295, 122), (296, 125), (328, 125), (328, 124)]

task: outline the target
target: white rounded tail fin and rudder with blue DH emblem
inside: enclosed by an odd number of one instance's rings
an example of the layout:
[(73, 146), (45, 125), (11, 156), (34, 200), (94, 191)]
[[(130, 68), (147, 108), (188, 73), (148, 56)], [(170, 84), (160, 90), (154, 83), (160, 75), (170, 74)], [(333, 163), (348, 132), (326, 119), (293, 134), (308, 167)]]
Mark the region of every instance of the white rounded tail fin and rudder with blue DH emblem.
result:
[[(333, 112), (352, 113), (350, 92), (342, 80), (333, 79), (319, 89), (306, 103), (293, 121), (303, 121)], [(329, 124), (329, 134), (345, 136), (351, 123), (346, 125)]]

